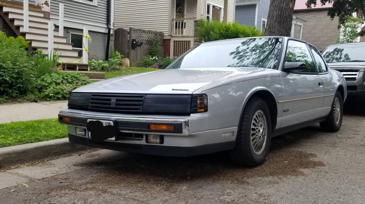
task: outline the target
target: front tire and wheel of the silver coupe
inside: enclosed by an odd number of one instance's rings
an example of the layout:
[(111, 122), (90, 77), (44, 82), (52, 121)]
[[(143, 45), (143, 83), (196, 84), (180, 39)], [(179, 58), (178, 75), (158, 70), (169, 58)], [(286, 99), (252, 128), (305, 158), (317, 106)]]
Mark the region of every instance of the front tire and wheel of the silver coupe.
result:
[(234, 163), (258, 166), (264, 163), (271, 142), (269, 107), (260, 97), (253, 97), (243, 110), (236, 146), (230, 151)]

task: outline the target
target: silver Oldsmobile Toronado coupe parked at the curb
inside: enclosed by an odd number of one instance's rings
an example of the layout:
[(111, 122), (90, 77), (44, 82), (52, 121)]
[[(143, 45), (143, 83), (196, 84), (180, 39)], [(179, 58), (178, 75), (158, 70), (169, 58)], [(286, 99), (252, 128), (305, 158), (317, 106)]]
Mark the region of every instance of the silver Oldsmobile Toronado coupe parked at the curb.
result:
[(165, 70), (80, 87), (58, 118), (77, 144), (180, 157), (228, 150), (257, 166), (274, 136), (315, 123), (338, 131), (346, 97), (345, 78), (311, 44), (242, 38), (198, 44)]

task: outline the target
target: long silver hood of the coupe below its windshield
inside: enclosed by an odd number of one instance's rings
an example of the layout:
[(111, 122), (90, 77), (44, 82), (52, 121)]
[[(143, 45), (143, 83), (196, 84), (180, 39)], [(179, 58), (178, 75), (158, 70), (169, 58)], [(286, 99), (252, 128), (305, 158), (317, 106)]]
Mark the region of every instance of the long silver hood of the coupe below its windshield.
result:
[(107, 79), (82, 86), (74, 92), (191, 94), (214, 82), (221, 86), (222, 82), (229, 83), (237, 77), (241, 81), (253, 77), (260, 78), (261, 72), (270, 72), (270, 69), (255, 67), (168, 69)]

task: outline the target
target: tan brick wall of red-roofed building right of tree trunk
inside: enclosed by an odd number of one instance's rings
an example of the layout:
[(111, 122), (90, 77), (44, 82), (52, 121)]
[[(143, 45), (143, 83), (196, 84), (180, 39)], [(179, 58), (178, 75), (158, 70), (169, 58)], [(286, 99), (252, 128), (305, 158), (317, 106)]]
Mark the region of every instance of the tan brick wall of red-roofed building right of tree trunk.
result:
[[(305, 40), (323, 51), (327, 46), (334, 44), (338, 39), (338, 17), (331, 20), (327, 16), (328, 9), (311, 9), (307, 11), (294, 11), (293, 16), (308, 20), (303, 24), (302, 40)], [(295, 36), (299, 35), (299, 28), (296, 28)]]

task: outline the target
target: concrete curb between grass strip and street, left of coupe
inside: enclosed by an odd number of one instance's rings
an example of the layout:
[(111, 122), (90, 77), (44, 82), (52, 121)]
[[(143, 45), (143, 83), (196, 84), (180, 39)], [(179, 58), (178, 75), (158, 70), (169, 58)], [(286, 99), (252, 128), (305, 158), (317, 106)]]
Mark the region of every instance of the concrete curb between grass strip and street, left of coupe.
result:
[(95, 149), (69, 142), (68, 138), (0, 148), (0, 168)]

